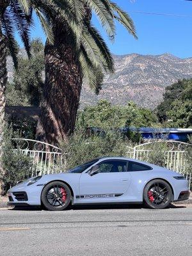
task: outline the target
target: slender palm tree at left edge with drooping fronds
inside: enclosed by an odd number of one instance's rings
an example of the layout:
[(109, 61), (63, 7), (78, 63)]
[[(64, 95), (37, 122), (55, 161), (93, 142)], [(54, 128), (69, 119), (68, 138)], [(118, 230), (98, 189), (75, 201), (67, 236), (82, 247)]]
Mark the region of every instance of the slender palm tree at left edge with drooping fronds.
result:
[[(15, 68), (17, 68), (17, 43), (15, 41), (15, 31), (20, 35), (26, 52), (30, 58), (29, 29), (33, 26), (32, 12), (38, 15), (42, 28), (47, 35), (47, 43), (53, 43), (52, 29), (46, 20), (51, 19), (52, 12), (59, 12), (60, 1), (58, 0), (0, 0), (0, 174), (3, 174), (1, 163), (2, 139), (4, 127), (4, 92), (7, 81), (6, 56), (7, 49), (12, 55)], [(49, 18), (50, 13), (50, 18)], [(45, 19), (46, 17), (46, 19)], [(65, 17), (65, 12), (60, 13), (60, 17)], [(1, 192), (1, 183), (0, 183)]]

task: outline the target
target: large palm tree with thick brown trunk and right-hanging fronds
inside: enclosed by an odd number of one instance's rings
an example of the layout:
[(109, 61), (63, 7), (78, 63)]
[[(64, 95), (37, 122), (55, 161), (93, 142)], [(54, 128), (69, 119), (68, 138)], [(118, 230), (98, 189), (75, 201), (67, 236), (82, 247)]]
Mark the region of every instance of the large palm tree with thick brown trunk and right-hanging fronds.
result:
[(36, 138), (58, 145), (74, 131), (83, 80), (97, 87), (94, 70), (114, 72), (109, 49), (92, 24), (95, 12), (109, 38), (115, 38), (115, 20), (136, 37), (127, 13), (109, 0), (63, 0), (52, 13), (54, 43), (45, 44), (45, 84)]

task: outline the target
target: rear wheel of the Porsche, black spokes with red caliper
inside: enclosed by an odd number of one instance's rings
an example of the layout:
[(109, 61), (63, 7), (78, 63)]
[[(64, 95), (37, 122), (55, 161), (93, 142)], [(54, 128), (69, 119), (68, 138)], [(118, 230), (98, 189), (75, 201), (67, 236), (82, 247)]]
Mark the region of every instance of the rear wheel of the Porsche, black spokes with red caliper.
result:
[(152, 209), (164, 209), (172, 202), (172, 188), (161, 179), (151, 180), (143, 191), (143, 200)]

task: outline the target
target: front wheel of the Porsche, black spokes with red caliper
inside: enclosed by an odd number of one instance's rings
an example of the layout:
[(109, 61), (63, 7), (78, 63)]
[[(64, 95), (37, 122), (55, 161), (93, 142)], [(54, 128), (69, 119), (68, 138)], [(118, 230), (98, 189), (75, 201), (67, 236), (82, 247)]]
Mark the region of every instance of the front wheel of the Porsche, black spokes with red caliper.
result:
[(42, 204), (49, 211), (63, 211), (71, 201), (68, 186), (60, 181), (53, 181), (45, 186), (41, 196)]

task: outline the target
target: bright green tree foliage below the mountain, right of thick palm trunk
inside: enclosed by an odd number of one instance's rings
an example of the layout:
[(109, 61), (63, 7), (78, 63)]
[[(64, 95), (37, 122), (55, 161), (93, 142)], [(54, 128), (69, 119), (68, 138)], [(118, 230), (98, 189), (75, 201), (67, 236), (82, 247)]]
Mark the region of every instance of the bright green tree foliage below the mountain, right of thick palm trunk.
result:
[(125, 106), (112, 105), (108, 100), (99, 100), (96, 106), (79, 111), (77, 127), (100, 127), (118, 129), (120, 127), (153, 127), (157, 118), (150, 109), (138, 107), (134, 102)]

